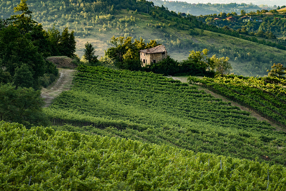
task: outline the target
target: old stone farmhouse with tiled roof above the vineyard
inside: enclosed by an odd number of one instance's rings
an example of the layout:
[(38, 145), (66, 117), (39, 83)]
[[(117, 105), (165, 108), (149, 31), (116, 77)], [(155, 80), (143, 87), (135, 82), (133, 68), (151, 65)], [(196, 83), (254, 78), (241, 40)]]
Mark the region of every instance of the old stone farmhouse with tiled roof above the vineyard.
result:
[(140, 60), (143, 62), (143, 66), (147, 64), (156, 63), (167, 57), (167, 50), (164, 45), (155, 46), (154, 48), (148, 48), (139, 50)]

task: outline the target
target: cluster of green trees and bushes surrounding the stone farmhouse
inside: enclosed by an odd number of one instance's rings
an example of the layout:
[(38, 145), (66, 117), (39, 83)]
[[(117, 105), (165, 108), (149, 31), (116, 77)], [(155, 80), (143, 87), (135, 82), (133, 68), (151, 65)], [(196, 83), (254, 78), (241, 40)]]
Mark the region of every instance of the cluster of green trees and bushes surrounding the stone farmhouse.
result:
[(167, 56), (160, 62), (142, 67), (138, 51), (160, 45), (155, 40), (151, 40), (146, 44), (142, 38), (140, 40), (134, 39), (134, 42), (132, 42), (132, 37), (124, 38), (120, 36), (115, 38), (113, 36), (110, 43), (113, 47), (108, 48), (100, 62), (101, 64), (113, 65), (120, 69), (152, 71), (165, 75), (187, 74), (205, 76), (213, 76), (215, 73), (227, 74), (232, 69), (231, 64), (228, 62), (228, 57), (218, 58), (216, 55), (209, 57), (207, 49), (202, 51), (192, 50), (188, 58), (181, 62)]

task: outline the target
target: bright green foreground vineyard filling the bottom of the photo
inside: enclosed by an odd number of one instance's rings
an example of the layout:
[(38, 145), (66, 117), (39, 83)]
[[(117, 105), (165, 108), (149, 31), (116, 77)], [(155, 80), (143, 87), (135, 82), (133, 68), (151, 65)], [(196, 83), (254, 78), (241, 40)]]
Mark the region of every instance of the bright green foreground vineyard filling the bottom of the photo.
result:
[(3, 190), (286, 189), (279, 164), (3, 121), (0, 140)]

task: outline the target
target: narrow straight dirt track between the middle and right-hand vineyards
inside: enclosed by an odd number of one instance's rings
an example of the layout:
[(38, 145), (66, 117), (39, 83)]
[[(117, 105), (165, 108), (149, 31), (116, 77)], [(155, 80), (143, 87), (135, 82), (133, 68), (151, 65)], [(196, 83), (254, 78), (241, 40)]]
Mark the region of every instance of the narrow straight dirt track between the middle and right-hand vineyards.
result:
[[(188, 83), (188, 77), (185, 76), (166, 76), (167, 78), (173, 78), (174, 80), (180, 80), (183, 83)], [(200, 77), (202, 78), (202, 77)], [(192, 86), (192, 84), (190, 84), (190, 86)], [(215, 92), (212, 92), (206, 88), (203, 88), (201, 86), (198, 86), (198, 90), (204, 90), (206, 93), (211, 94), (213, 97), (215, 98), (220, 98), (225, 102), (231, 102), (231, 105), (237, 106), (239, 107), (242, 111), (248, 111), (250, 112), (250, 116), (255, 117), (257, 120), (259, 121), (267, 121), (267, 123), (271, 124), (272, 126), (276, 127), (276, 131), (286, 131), (286, 129), (283, 129), (280, 125), (277, 125), (276, 123), (273, 123), (272, 121), (269, 121), (268, 119), (262, 117), (261, 115), (259, 115), (258, 113), (256, 113), (255, 111), (252, 111), (251, 109), (240, 105), (239, 103), (236, 103), (232, 100), (229, 100), (223, 96), (221, 96), (220, 94), (217, 94)]]

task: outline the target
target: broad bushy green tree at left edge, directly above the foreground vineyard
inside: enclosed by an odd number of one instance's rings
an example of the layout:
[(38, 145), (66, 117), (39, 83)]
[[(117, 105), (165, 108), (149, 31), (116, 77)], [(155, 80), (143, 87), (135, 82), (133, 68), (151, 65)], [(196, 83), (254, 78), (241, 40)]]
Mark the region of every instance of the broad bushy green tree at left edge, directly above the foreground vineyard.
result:
[(40, 95), (40, 90), (16, 88), (11, 84), (0, 85), (0, 121), (21, 123), (27, 128), (47, 125), (42, 108), (44, 101)]

